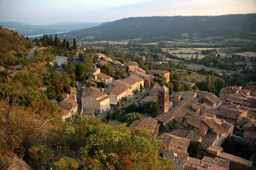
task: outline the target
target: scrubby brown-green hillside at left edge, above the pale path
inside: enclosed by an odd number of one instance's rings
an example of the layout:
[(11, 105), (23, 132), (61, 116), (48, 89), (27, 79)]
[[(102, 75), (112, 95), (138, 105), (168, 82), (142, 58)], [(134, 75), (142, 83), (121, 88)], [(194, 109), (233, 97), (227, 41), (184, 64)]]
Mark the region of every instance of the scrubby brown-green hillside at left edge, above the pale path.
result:
[(31, 41), (24, 36), (0, 27), (0, 66), (15, 65), (15, 61), (33, 48)]

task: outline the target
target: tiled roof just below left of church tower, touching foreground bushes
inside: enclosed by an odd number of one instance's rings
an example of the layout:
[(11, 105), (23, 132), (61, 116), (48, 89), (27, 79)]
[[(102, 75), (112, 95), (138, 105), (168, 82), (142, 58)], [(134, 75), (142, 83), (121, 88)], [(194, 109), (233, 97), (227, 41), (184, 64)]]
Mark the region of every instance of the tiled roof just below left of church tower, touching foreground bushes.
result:
[(130, 130), (133, 130), (135, 128), (147, 129), (150, 131), (152, 135), (157, 135), (157, 133), (159, 132), (159, 127), (160, 124), (157, 123), (157, 120), (151, 117), (140, 118), (139, 120), (135, 120), (129, 126)]

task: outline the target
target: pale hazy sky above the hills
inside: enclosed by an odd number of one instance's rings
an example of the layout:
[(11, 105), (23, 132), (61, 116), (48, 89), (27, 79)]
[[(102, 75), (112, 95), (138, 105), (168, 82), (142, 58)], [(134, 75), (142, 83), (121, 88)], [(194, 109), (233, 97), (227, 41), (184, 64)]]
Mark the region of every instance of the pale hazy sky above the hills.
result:
[(0, 0), (0, 21), (41, 25), (107, 22), (141, 16), (256, 12), (256, 0)]

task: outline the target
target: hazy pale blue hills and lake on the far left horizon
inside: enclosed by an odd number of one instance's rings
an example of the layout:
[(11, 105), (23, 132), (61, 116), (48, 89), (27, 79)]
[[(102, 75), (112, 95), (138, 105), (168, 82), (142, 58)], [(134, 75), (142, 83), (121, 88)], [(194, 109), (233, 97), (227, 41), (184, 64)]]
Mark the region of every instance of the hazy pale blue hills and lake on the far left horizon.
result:
[(101, 22), (59, 22), (47, 25), (30, 25), (21, 22), (0, 22), (0, 26), (17, 31), (20, 35), (29, 36), (43, 33), (57, 33), (90, 28), (100, 25)]

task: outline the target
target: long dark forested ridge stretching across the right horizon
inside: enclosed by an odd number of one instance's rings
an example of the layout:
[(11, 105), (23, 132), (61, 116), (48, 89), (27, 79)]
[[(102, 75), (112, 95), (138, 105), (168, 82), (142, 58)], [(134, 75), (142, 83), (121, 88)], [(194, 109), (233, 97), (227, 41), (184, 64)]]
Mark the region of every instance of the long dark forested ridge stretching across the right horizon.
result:
[(68, 39), (76, 37), (76, 41), (100, 41), (139, 37), (175, 38), (182, 33), (192, 36), (226, 36), (244, 32), (256, 32), (256, 14), (131, 17), (58, 36)]

